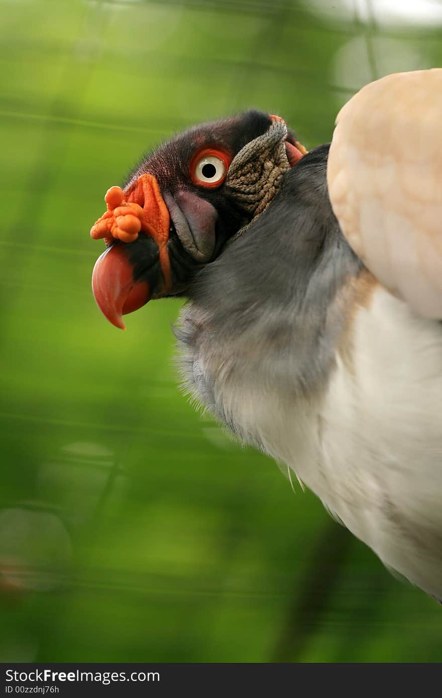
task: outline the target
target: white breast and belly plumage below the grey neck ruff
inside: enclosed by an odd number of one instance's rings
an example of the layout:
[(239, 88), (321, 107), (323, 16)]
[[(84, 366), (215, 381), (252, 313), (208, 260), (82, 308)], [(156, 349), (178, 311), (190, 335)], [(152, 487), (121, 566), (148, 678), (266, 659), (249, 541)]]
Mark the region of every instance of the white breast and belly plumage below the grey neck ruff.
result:
[(223, 409), (386, 565), (441, 597), (442, 326), (378, 286), (351, 346), (308, 401), (283, 403), (268, 376), (250, 385), (231, 366)]

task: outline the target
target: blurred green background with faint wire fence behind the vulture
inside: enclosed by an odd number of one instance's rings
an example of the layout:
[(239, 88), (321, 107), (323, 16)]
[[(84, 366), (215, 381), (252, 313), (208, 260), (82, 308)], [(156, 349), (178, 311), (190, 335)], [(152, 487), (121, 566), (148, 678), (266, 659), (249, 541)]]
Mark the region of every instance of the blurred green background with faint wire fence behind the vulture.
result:
[(180, 303), (106, 322), (89, 238), (175, 131), (253, 106), (313, 147), (365, 82), (441, 66), (441, 3), (0, 9), (0, 660), (441, 660), (442, 609), (179, 393)]

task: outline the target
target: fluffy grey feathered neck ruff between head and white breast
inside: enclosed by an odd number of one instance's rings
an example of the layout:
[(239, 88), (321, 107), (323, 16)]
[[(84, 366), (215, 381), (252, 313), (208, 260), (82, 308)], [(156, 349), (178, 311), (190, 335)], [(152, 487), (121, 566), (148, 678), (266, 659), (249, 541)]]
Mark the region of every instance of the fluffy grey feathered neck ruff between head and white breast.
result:
[(264, 450), (258, 403), (321, 399), (361, 269), (330, 207), (327, 154), (304, 156), (270, 207), (200, 271), (176, 329), (186, 388)]

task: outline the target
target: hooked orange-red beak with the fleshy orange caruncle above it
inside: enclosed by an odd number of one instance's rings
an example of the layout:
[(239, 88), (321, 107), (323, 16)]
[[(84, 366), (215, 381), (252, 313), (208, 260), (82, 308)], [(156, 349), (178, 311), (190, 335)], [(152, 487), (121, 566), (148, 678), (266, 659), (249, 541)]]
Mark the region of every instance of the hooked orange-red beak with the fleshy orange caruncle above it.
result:
[[(163, 276), (155, 297), (165, 295), (170, 289), (167, 248), (170, 216), (152, 174), (142, 174), (126, 192), (116, 186), (110, 188), (105, 202), (108, 210), (91, 228), (91, 237), (103, 238), (109, 246), (96, 260), (92, 290), (103, 315), (115, 327), (126, 329), (122, 316), (138, 310), (152, 297), (152, 288), (143, 279), (149, 264), (154, 265), (159, 260)], [(138, 268), (138, 263), (131, 262), (133, 247), (140, 248), (143, 243), (142, 237), (138, 239), (140, 232), (156, 242), (154, 255), (145, 255), (145, 268)], [(149, 250), (152, 250), (152, 242)]]

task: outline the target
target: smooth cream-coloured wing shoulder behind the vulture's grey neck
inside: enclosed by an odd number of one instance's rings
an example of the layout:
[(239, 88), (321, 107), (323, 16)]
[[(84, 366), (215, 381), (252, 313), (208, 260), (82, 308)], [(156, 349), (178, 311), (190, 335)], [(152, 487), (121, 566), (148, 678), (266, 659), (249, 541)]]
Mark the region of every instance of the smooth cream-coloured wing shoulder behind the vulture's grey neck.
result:
[(388, 75), (351, 98), (327, 183), (364, 264), (414, 311), (442, 318), (442, 69)]

